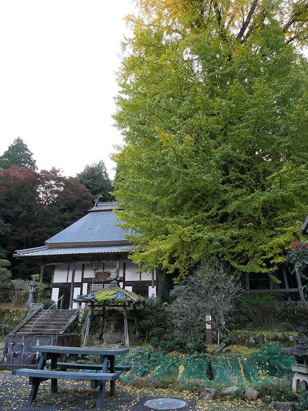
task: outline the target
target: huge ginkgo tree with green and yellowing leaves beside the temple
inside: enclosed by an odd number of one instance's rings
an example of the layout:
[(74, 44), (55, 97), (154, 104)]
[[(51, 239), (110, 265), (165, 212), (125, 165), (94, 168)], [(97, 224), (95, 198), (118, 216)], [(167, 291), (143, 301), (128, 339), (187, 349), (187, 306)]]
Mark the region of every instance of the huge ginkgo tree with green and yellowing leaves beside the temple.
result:
[(133, 259), (273, 273), (308, 209), (307, 1), (139, 6), (115, 115)]

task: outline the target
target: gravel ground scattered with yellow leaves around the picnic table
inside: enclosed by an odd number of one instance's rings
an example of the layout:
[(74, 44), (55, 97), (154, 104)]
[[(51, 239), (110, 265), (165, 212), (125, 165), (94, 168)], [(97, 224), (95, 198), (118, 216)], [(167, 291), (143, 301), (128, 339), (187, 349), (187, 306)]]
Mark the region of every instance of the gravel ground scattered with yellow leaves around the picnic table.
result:
[[(10, 371), (0, 371), (0, 411), (86, 411), (93, 410), (97, 401), (97, 390), (89, 388), (89, 381), (58, 381), (59, 393), (50, 393), (50, 381), (41, 383), (36, 401), (27, 406), (30, 391), (27, 378), (12, 377)], [(158, 388), (137, 388), (117, 384), (117, 395), (106, 396), (104, 411), (129, 411), (141, 397), (196, 398), (197, 411), (264, 411), (261, 402), (201, 400), (190, 391)]]

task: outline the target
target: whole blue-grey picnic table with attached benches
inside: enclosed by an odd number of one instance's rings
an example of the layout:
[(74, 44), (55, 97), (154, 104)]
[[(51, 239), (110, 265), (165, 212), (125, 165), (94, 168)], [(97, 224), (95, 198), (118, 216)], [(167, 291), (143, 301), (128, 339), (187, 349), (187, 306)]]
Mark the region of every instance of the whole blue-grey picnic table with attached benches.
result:
[[(91, 348), (91, 347), (61, 347), (54, 345), (38, 345), (29, 347), (30, 352), (40, 352), (41, 358), (36, 369), (19, 368), (12, 371), (12, 375), (29, 377), (32, 385), (28, 403), (35, 400), (40, 383), (51, 380), (51, 392), (57, 392), (58, 379), (90, 380), (91, 387), (99, 387), (97, 407), (103, 405), (106, 382), (110, 381), (110, 395), (115, 394), (115, 380), (119, 378), (115, 371), (128, 371), (130, 366), (115, 366), (115, 356), (123, 356), (129, 350), (127, 348)], [(69, 356), (84, 357), (98, 355), (99, 364), (79, 364), (75, 362), (59, 362)], [(45, 369), (49, 367), (50, 369)], [(68, 371), (67, 369), (89, 370), (98, 372)]]

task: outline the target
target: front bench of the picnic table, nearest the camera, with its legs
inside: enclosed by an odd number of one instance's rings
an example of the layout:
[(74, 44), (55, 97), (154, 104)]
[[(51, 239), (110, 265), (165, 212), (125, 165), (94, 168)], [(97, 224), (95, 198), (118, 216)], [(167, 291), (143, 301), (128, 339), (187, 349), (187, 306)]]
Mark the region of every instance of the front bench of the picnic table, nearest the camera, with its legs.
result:
[(29, 399), (28, 399), (28, 404), (30, 404), (31, 402), (35, 400), (38, 387), (40, 386), (40, 383), (42, 381), (46, 381), (49, 379), (98, 381), (99, 387), (100, 387), (98, 402), (97, 402), (98, 408), (101, 408), (103, 405), (103, 396), (105, 393), (106, 381), (115, 381), (119, 378), (118, 374), (116, 373), (74, 372), (74, 371), (61, 371), (58, 369), (49, 370), (49, 369), (29, 369), (29, 368), (14, 369), (12, 371), (12, 375), (29, 377), (32, 388), (31, 388)]

